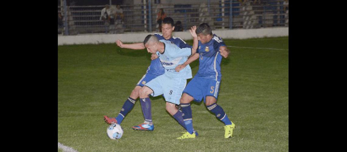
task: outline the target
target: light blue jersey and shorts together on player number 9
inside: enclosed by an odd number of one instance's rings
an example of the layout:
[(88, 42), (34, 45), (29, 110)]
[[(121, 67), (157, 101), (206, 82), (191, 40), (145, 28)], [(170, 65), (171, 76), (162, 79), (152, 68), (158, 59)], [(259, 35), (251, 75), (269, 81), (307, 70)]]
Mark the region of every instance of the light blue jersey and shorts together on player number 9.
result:
[(192, 55), (192, 48), (179, 48), (170, 41), (159, 41), (164, 43), (164, 52), (156, 52), (156, 54), (159, 56), (165, 73), (149, 81), (145, 86), (152, 89), (151, 95), (153, 97), (164, 95), (167, 102), (179, 105), (179, 99), (187, 84), (187, 79), (192, 78), (192, 70), (189, 65), (179, 72), (176, 72), (175, 68), (187, 61), (188, 56)]

